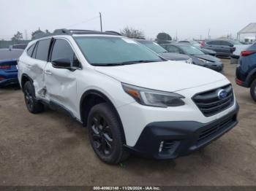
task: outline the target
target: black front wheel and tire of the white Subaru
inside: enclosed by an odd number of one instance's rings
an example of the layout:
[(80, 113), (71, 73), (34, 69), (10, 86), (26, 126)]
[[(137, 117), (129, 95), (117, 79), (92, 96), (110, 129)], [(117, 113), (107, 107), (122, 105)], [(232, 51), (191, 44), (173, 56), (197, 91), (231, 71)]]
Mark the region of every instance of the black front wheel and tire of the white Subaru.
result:
[(117, 164), (129, 157), (129, 152), (123, 147), (125, 140), (122, 126), (109, 104), (97, 104), (92, 107), (87, 127), (91, 147), (100, 160)]

